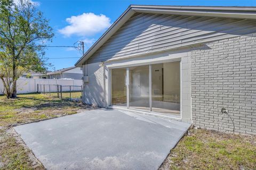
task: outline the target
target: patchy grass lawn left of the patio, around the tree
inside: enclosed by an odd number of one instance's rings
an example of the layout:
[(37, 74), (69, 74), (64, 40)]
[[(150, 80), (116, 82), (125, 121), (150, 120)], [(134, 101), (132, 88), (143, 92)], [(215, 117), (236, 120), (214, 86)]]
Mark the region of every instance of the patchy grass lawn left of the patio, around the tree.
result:
[[(0, 96), (0, 169), (44, 169), (41, 163), (33, 160), (33, 153), (20, 137), (13, 133), (13, 125), (72, 115), (80, 109), (92, 109), (91, 106), (55, 96), (19, 94), (17, 99), (9, 100)], [(81, 92), (77, 96), (81, 96)]]

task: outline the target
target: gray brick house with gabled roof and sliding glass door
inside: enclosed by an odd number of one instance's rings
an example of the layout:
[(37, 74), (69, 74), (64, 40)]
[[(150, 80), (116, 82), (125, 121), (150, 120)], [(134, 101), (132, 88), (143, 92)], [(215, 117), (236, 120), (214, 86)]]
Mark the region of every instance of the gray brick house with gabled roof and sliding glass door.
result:
[(75, 66), (84, 103), (256, 134), (256, 7), (131, 5)]

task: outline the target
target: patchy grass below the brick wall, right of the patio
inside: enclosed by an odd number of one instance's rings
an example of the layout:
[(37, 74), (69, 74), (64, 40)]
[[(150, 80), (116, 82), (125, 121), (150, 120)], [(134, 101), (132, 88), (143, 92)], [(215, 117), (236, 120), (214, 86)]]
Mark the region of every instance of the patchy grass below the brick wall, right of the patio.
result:
[(256, 169), (256, 136), (191, 129), (171, 150), (170, 169)]

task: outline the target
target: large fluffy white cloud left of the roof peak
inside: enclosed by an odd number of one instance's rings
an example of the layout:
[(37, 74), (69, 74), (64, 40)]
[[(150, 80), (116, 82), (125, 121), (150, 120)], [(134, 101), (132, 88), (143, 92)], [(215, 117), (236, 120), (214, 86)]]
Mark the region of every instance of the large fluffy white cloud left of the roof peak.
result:
[(110, 19), (106, 15), (94, 13), (83, 13), (72, 16), (66, 21), (69, 26), (59, 29), (59, 32), (67, 37), (71, 35), (93, 36), (110, 27)]

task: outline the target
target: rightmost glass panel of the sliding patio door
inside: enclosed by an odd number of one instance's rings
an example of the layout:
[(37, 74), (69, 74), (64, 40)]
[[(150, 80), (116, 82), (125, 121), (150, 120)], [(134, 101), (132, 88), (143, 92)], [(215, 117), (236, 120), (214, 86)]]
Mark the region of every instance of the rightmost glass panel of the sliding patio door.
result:
[(180, 115), (180, 62), (151, 65), (152, 111)]

